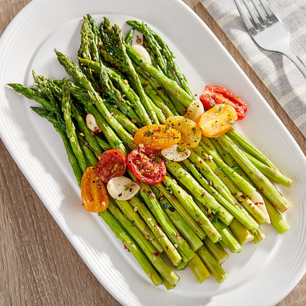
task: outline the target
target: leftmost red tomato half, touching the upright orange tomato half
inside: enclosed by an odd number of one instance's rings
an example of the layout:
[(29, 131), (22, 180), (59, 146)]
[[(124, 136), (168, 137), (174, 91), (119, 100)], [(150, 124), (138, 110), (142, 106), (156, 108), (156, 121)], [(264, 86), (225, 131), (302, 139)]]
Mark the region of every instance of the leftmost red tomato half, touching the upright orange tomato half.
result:
[(125, 171), (125, 156), (121, 150), (111, 149), (99, 156), (97, 172), (104, 183), (107, 184), (113, 177), (122, 176)]

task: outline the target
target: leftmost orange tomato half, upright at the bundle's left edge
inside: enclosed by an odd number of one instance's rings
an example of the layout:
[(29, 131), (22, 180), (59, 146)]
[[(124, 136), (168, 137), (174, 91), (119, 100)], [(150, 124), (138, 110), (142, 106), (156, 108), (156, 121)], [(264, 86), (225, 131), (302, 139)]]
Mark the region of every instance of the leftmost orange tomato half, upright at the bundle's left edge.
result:
[(109, 197), (95, 167), (85, 170), (81, 182), (81, 195), (83, 206), (89, 212), (103, 212), (108, 208)]

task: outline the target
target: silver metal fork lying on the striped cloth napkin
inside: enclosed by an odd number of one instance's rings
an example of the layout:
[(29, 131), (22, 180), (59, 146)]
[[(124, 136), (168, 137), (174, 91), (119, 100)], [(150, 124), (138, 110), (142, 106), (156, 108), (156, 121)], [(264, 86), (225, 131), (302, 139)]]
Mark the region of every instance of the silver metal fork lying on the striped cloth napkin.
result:
[[(306, 65), (296, 56), (290, 47), (290, 34), (284, 24), (274, 15), (266, 0), (259, 0), (265, 12), (259, 7), (256, 0), (251, 0), (254, 9), (260, 18), (251, 9), (246, 0), (242, 0), (246, 6), (250, 18), (243, 11), (239, 0), (234, 0), (238, 11), (242, 17), (245, 27), (252, 39), (263, 49), (282, 53), (287, 56), (306, 77)], [(269, 19), (266, 17), (269, 17)]]

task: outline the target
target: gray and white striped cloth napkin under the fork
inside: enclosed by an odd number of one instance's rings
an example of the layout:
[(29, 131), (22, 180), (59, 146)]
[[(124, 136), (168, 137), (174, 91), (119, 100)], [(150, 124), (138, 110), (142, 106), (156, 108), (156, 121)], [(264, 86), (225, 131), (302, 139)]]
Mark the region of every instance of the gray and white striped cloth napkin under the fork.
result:
[[(306, 1), (267, 0), (290, 32), (290, 45), (306, 63)], [(234, 0), (201, 0), (201, 3), (241, 55), (306, 136), (306, 79), (285, 56), (261, 49), (253, 42)]]

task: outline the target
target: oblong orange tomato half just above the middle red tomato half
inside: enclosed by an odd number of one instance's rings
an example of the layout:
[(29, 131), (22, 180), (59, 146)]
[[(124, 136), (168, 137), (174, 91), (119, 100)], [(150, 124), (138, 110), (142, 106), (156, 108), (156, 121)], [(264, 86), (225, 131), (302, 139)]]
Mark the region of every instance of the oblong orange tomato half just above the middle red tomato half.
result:
[(181, 133), (173, 127), (163, 124), (151, 124), (141, 127), (135, 136), (136, 144), (143, 144), (151, 150), (169, 148), (181, 140)]

